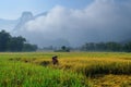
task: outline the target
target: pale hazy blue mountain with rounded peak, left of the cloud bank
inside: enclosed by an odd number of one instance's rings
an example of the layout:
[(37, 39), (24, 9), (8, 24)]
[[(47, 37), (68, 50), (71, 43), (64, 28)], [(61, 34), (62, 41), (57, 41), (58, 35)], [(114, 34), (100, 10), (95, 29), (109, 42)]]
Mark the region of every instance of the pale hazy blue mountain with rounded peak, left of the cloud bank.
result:
[(0, 18), (0, 30), (5, 29), (8, 32), (14, 32), (21, 29), (24, 24), (28, 21), (35, 20), (39, 16), (46, 15), (47, 12), (33, 15), (32, 12), (23, 12), (22, 15), (16, 20), (4, 20)]

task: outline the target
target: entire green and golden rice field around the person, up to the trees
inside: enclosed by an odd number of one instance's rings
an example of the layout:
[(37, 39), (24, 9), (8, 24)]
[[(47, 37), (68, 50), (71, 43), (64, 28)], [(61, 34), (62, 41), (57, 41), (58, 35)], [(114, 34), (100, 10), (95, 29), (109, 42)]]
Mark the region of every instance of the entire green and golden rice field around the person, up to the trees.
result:
[(131, 87), (131, 53), (1, 52), (0, 87)]

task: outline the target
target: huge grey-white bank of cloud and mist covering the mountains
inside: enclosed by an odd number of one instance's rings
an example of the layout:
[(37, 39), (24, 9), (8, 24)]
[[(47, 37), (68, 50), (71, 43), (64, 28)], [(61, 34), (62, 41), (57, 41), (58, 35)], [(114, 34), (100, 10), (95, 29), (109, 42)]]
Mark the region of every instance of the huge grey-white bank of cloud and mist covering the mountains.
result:
[(131, 39), (131, 1), (94, 0), (84, 9), (56, 5), (19, 32), (33, 44), (80, 46), (84, 42)]

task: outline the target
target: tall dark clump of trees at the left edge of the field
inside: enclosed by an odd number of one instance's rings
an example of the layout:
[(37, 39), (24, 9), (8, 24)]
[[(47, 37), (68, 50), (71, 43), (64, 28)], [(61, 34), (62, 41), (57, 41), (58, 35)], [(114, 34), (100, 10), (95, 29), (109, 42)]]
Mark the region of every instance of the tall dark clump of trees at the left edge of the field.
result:
[(5, 30), (0, 32), (0, 51), (36, 51), (37, 46), (26, 44), (26, 39), (22, 36), (12, 37)]

